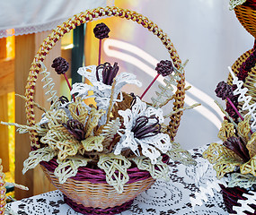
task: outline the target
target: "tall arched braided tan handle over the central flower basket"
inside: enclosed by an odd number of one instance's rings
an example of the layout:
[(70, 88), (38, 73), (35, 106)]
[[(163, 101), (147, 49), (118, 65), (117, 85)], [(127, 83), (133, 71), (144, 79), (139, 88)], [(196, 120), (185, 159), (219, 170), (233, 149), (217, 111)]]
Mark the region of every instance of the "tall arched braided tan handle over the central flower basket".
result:
[[(29, 125), (35, 125), (35, 115), (34, 115), (34, 107), (33, 107), (33, 96), (35, 92), (35, 85), (38, 78), (38, 74), (40, 72), (40, 63), (42, 63), (45, 57), (49, 54), (49, 51), (52, 47), (55, 46), (58, 39), (61, 39), (64, 34), (69, 32), (70, 30), (75, 29), (76, 26), (81, 25), (85, 22), (91, 22), (93, 19), (102, 17), (102, 16), (116, 16), (120, 18), (125, 18), (127, 20), (131, 20), (133, 22), (137, 22), (138, 24), (142, 25), (144, 28), (147, 28), (149, 31), (152, 31), (154, 35), (156, 35), (159, 39), (161, 39), (164, 47), (167, 48), (170, 56), (172, 58), (172, 62), (174, 66), (179, 69), (181, 66), (181, 59), (177, 54), (176, 49), (173, 47), (171, 39), (163, 33), (163, 30), (158, 28), (154, 22), (148, 20), (145, 16), (130, 11), (120, 9), (118, 7), (99, 7), (93, 10), (87, 10), (84, 13), (78, 13), (72, 18), (68, 19), (62, 25), (57, 26), (57, 29), (52, 30), (51, 34), (49, 34), (48, 38), (45, 39), (42, 44), (40, 45), (40, 49), (37, 52), (36, 56), (33, 59), (31, 64), (31, 69), (26, 85), (25, 97), (26, 97), (26, 116)], [(184, 74), (181, 74), (181, 81), (178, 82), (177, 90), (175, 92), (175, 98), (173, 102), (173, 110), (176, 110), (180, 107), (184, 106), (184, 99), (185, 99), (185, 77)], [(182, 111), (174, 114), (171, 116), (170, 125), (167, 126), (167, 130), (170, 133), (172, 140), (176, 135), (178, 127), (180, 125)], [(39, 138), (37, 136), (36, 131), (32, 131), (30, 133), (31, 137), (31, 145), (37, 145), (39, 142)]]

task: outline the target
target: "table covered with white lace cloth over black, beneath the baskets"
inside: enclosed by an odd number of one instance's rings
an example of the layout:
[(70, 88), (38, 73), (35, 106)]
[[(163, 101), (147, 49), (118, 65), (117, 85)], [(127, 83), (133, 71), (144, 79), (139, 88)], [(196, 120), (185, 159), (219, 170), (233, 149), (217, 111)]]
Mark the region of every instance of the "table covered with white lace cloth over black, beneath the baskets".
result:
[[(206, 187), (207, 181), (216, 180), (215, 170), (201, 156), (206, 148), (207, 146), (190, 150), (193, 158), (198, 161), (196, 167), (186, 167), (172, 162), (169, 172), (171, 180), (169, 182), (156, 181), (149, 190), (137, 196), (128, 211), (120, 215), (227, 215), (222, 195), (216, 191), (212, 197), (207, 195), (208, 201), (202, 206), (196, 206), (195, 211), (192, 211), (190, 196), (193, 197), (196, 192), (199, 192), (199, 186)], [(200, 172), (204, 174), (197, 179), (196, 175), (199, 176)], [(22, 215), (81, 215), (66, 205), (59, 191), (9, 203), (7, 209), (12, 209), (15, 213)]]

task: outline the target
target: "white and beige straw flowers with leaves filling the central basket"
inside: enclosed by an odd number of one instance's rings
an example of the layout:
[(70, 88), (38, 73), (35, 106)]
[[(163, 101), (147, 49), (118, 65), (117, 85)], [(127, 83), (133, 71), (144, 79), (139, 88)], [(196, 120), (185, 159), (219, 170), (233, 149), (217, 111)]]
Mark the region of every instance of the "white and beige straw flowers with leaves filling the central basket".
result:
[[(52, 67), (64, 74), (68, 69), (64, 64), (68, 64), (66, 60), (57, 57)], [(43, 64), (42, 68), (42, 73), (48, 73)], [(75, 176), (78, 168), (86, 166), (103, 169), (107, 182), (118, 193), (123, 192), (123, 185), (129, 179), (127, 169), (132, 165), (148, 171), (155, 179), (167, 179), (168, 165), (163, 162), (163, 155), (172, 158), (179, 148), (176, 143), (173, 147), (166, 125), (163, 125), (166, 116), (162, 108), (122, 92), (125, 84), (141, 86), (141, 82), (131, 73), (117, 75), (118, 70), (117, 63), (81, 67), (77, 73), (92, 85), (75, 83), (70, 91), (74, 96), (71, 101), (64, 96), (51, 97), (51, 107), (32, 127), (11, 124), (16, 125), (20, 133), (36, 130), (40, 135), (40, 146), (24, 161), (23, 174), (41, 161), (57, 158), (54, 174), (60, 184)], [(173, 80), (177, 78), (175, 74), (169, 75)], [(48, 79), (44, 82), (47, 86)], [(89, 91), (93, 91), (93, 95), (89, 95)], [(47, 93), (55, 94), (52, 90)], [(96, 105), (86, 105), (84, 101), (88, 98), (93, 98)], [(179, 161), (194, 163), (189, 152), (181, 150), (180, 153), (186, 157)]]

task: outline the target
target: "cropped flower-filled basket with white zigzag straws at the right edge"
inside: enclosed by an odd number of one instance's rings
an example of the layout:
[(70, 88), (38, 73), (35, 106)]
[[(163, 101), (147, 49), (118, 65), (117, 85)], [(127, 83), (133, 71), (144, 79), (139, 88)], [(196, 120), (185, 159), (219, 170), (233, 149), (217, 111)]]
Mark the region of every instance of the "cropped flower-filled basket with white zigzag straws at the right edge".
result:
[(210, 144), (203, 157), (214, 164), (229, 213), (256, 214), (256, 113), (254, 48), (232, 65), (227, 83), (220, 82), (216, 95), (226, 100), (225, 119), (218, 133), (223, 142)]

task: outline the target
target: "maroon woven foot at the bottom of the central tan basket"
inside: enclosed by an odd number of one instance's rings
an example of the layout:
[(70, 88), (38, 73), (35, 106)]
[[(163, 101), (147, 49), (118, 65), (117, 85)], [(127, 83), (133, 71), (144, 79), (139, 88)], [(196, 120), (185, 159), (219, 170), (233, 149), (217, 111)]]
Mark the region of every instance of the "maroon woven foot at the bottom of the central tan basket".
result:
[[(83, 204), (77, 204), (76, 202), (73, 202), (71, 199), (69, 199), (68, 197), (66, 197), (65, 194), (64, 195), (64, 201), (71, 207), (73, 208), (74, 211), (76, 212), (80, 212), (83, 214), (87, 214), (87, 215), (99, 215), (99, 214), (118, 214), (122, 211), (127, 211), (128, 208), (131, 206), (133, 200), (130, 200), (129, 202), (125, 202), (120, 206), (116, 206), (113, 208), (107, 208), (107, 209), (101, 209), (101, 208), (87, 208), (84, 207)], [(110, 200), (111, 201), (111, 200)]]

